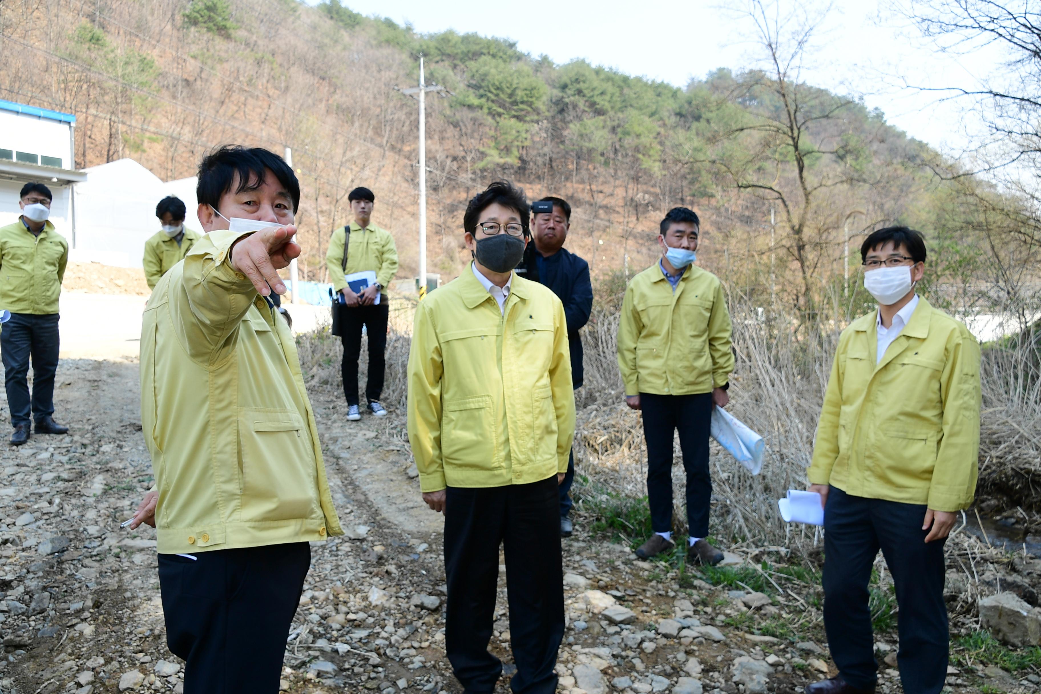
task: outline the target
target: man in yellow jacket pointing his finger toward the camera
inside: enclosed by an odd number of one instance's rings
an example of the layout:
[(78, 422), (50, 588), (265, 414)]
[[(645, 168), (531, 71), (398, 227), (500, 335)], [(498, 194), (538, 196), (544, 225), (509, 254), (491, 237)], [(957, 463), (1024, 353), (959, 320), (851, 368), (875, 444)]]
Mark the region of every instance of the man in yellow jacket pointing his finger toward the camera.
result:
[(275, 694), (308, 542), (342, 534), (296, 343), (271, 300), (300, 255), (300, 185), (278, 155), (224, 147), (200, 164), (197, 195), (206, 235), (155, 285), (142, 322), (156, 487), (132, 526), (156, 526), (184, 691)]

